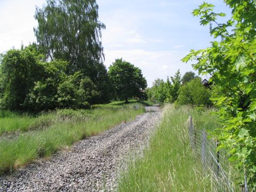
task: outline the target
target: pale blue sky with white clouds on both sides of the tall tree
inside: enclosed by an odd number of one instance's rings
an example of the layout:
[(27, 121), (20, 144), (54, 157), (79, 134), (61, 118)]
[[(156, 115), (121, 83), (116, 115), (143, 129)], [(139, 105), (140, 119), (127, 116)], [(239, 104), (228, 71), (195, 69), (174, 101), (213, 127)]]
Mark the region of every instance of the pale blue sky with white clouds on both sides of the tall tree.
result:
[[(206, 1), (216, 12), (230, 9), (220, 0)], [(0, 53), (19, 49), (36, 42), (33, 28), (36, 6), (46, 0), (0, 0)], [(106, 25), (102, 31), (105, 65), (123, 58), (142, 70), (150, 87), (156, 78), (166, 80), (178, 69), (181, 74), (194, 71), (191, 63), (180, 60), (191, 49), (204, 49), (213, 38), (209, 26), (200, 26), (191, 12), (203, 0), (98, 0), (99, 20)], [(197, 72), (195, 71), (197, 74)], [(202, 76), (208, 78), (207, 76)]]

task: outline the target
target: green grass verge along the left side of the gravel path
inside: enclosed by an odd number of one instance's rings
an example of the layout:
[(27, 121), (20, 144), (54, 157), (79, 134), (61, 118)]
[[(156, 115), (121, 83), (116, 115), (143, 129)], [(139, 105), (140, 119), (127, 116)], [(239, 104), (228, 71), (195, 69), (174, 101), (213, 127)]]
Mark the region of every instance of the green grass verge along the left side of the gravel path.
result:
[[(136, 106), (136, 107), (135, 107)], [(85, 137), (98, 134), (144, 112), (140, 103), (90, 110), (57, 110), (43, 114), (30, 124), (27, 132), (0, 141), (0, 174), (10, 173), (40, 157), (71, 146)], [(21, 117), (20, 117), (21, 118)]]

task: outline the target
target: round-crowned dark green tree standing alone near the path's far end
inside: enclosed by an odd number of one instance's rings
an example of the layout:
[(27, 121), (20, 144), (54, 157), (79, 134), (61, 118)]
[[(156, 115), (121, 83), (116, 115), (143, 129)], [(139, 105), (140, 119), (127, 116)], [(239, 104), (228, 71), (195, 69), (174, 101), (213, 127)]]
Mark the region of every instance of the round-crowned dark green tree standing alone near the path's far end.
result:
[(141, 97), (141, 91), (146, 89), (147, 81), (141, 69), (123, 59), (116, 59), (109, 67), (110, 82), (114, 87), (115, 96), (128, 102), (128, 98)]

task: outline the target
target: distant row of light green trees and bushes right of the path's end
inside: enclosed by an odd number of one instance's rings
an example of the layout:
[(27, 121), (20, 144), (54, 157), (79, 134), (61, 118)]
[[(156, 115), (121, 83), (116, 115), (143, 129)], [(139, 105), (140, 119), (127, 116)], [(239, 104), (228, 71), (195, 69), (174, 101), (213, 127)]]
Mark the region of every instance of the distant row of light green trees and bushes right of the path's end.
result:
[(174, 77), (167, 77), (166, 82), (157, 78), (146, 92), (151, 101), (160, 104), (212, 106), (211, 90), (202, 85), (201, 77), (196, 76), (192, 71), (188, 71), (181, 78), (180, 70), (178, 70)]

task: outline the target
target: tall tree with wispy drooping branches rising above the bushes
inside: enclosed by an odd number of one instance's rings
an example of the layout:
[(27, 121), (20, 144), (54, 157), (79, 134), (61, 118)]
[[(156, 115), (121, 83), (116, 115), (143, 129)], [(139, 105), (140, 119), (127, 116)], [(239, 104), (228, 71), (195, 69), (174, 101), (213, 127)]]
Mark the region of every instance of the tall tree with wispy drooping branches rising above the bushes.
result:
[(89, 75), (90, 68), (102, 62), (105, 25), (98, 21), (95, 0), (48, 0), (42, 9), (36, 8), (35, 19), (37, 42), (51, 60), (68, 61), (70, 73), (83, 69)]

